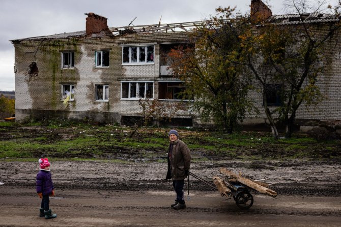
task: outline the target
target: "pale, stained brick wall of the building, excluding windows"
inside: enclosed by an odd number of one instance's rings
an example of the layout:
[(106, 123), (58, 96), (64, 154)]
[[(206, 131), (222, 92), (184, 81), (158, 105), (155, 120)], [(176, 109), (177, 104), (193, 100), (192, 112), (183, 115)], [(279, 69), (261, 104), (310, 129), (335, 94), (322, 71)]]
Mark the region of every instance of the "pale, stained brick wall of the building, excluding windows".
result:
[[(149, 34), (143, 36), (124, 36), (116, 38), (102, 37), (101, 39), (79, 38), (72, 47), (68, 40), (52, 41), (22, 41), (15, 44), (15, 62), (18, 71), (15, 74), (16, 109), (37, 110), (70, 110), (84, 112), (113, 112), (120, 114), (140, 114), (137, 100), (121, 100), (121, 81), (123, 80), (156, 80), (159, 77), (159, 44), (155, 44), (154, 64), (122, 66), (122, 47), (120, 43), (156, 43), (172, 40), (185, 40), (184, 34)], [(319, 78), (321, 92), (328, 98), (315, 109), (304, 105), (297, 112), (298, 119), (341, 119), (341, 44), (332, 42), (326, 46), (329, 50), (336, 50), (325, 63), (325, 74)], [(39, 49), (37, 50), (39, 46)], [(62, 70), (60, 51), (76, 49), (75, 69)], [(95, 68), (95, 50), (110, 48), (109, 68)], [(326, 54), (329, 52), (326, 51)], [(35, 55), (36, 53), (36, 55)], [(26, 75), (27, 67), (36, 60), (39, 75), (31, 78)], [(61, 84), (75, 83), (74, 102), (65, 108), (61, 101)], [(95, 102), (95, 84), (109, 84), (109, 102)], [(158, 96), (157, 82), (154, 83), (154, 98)], [(250, 92), (260, 115), (254, 112), (247, 117), (265, 117), (262, 96)], [(179, 115), (188, 116), (190, 112), (179, 111)]]

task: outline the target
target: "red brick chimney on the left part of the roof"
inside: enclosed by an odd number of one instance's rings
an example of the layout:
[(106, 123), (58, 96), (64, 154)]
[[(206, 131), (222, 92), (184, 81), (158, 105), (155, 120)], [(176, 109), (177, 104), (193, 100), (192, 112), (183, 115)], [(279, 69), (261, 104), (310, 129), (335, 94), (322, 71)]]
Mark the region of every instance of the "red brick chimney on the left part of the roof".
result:
[(86, 23), (87, 36), (98, 33), (112, 35), (106, 23), (106, 20), (108, 20), (108, 18), (95, 13), (86, 13), (85, 15), (88, 15)]

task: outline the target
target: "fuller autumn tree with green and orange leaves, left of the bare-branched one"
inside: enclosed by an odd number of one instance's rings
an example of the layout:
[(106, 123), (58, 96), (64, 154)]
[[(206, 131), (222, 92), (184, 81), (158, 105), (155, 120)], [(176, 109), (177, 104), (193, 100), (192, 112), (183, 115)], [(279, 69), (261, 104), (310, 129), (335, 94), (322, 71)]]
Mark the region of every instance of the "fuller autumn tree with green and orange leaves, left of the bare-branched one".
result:
[(232, 133), (252, 107), (247, 98), (251, 81), (246, 66), (243, 34), (250, 29), (248, 18), (235, 8), (218, 8), (218, 16), (197, 25), (189, 35), (190, 43), (169, 54), (171, 69), (185, 81), (187, 97), (203, 122), (212, 121)]

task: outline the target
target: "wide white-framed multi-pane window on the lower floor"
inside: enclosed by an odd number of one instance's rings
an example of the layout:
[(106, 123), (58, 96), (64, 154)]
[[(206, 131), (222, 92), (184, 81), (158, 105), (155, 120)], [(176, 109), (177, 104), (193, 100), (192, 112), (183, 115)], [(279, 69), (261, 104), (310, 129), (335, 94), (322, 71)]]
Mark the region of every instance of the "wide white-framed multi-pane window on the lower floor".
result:
[(121, 99), (153, 99), (154, 83), (121, 82)]

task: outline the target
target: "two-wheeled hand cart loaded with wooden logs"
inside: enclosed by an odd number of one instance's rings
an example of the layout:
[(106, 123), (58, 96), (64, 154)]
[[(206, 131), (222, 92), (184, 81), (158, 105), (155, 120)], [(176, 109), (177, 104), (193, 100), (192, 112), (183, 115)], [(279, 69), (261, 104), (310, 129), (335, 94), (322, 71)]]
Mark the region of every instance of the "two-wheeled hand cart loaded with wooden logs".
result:
[(249, 209), (253, 205), (253, 196), (259, 192), (271, 197), (277, 196), (277, 192), (267, 188), (268, 184), (266, 183), (252, 181), (224, 168), (220, 169), (220, 173), (225, 175), (224, 179), (215, 176), (213, 177), (214, 184), (196, 176), (192, 172), (189, 172), (189, 175), (218, 190), (221, 196), (228, 199), (233, 198), (236, 205), (243, 210)]

